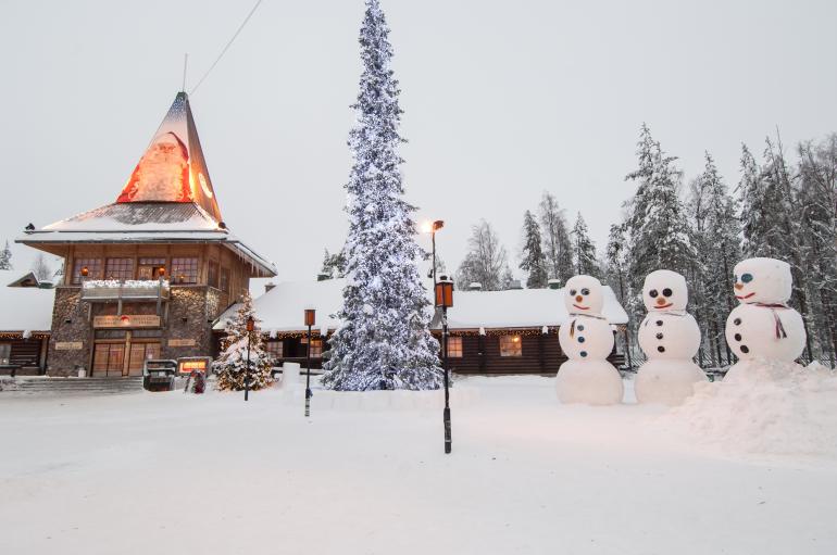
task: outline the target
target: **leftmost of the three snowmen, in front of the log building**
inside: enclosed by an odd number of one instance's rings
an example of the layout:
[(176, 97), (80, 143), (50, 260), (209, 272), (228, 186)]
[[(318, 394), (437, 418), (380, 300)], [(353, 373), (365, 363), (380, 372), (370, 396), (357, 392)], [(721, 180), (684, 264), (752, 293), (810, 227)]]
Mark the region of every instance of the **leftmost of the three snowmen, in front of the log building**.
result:
[(558, 330), (558, 340), (569, 360), (555, 378), (562, 403), (612, 405), (622, 402), (619, 370), (607, 358), (613, 350), (613, 331), (601, 315), (602, 287), (591, 276), (574, 276), (564, 286), (564, 305), (570, 319)]

